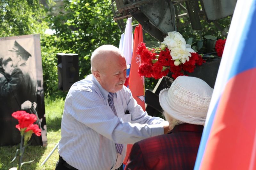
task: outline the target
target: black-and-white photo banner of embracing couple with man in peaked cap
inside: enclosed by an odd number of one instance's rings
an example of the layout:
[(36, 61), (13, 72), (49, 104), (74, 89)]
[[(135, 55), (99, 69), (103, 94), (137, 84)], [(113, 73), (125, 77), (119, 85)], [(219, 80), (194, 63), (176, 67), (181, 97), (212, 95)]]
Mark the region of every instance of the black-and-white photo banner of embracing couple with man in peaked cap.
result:
[(18, 120), (12, 113), (24, 110), (37, 116), (40, 137), (31, 145), (47, 145), (40, 35), (0, 38), (0, 146), (20, 143)]

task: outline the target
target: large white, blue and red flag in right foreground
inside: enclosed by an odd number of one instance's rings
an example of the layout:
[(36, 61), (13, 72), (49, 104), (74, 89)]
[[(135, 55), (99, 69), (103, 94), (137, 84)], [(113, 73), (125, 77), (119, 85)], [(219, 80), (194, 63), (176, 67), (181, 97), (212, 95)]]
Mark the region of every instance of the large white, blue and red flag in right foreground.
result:
[(256, 169), (256, 0), (236, 3), (194, 169)]

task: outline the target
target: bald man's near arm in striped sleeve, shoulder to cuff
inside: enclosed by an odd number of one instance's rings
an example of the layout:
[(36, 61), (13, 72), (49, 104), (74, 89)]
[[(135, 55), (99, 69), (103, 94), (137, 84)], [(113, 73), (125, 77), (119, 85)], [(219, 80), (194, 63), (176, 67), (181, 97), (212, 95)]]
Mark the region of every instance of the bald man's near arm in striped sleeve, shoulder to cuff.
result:
[(163, 125), (124, 123), (121, 118), (116, 117), (107, 105), (108, 101), (105, 101), (96, 92), (80, 90), (69, 95), (71, 98), (67, 98), (66, 102), (71, 100), (72, 107), (64, 108), (67, 115), (63, 115), (63, 119), (72, 116), (104, 137), (115, 141), (115, 143), (133, 144), (142, 139), (164, 133)]

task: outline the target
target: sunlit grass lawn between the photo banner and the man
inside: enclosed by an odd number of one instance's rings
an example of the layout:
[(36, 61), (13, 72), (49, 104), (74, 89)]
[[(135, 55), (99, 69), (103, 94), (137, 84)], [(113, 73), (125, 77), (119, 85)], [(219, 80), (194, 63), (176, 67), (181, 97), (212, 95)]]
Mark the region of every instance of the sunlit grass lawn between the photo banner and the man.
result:
[[(24, 153), (23, 161), (29, 161), (33, 159), (35, 159), (35, 161), (30, 164), (24, 164), (22, 166), (23, 170), (55, 169), (56, 162), (59, 159), (59, 154), (57, 149), (53, 152), (52, 156), (48, 159), (48, 161), (44, 164), (44, 166), (40, 166), (40, 165), (60, 140), (60, 125), (61, 125), (63, 107), (64, 107), (63, 99), (55, 99), (55, 100), (45, 99), (45, 116), (46, 116), (46, 125), (47, 125), (48, 145), (47, 147), (28, 146)], [(10, 163), (17, 149), (19, 149), (19, 145), (0, 147), (0, 170), (8, 170), (11, 167), (17, 166), (18, 164), (17, 158), (14, 162)]]

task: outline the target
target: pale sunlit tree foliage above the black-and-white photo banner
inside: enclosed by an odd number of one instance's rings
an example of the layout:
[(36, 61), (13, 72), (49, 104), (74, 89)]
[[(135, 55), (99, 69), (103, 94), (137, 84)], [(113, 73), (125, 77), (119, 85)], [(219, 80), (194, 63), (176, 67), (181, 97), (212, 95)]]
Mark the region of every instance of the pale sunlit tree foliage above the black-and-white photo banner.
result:
[(43, 33), (43, 9), (36, 0), (0, 0), (0, 36)]

